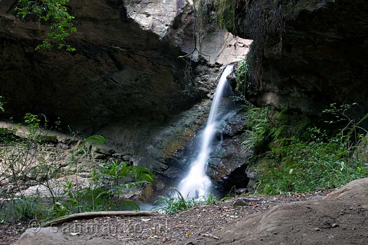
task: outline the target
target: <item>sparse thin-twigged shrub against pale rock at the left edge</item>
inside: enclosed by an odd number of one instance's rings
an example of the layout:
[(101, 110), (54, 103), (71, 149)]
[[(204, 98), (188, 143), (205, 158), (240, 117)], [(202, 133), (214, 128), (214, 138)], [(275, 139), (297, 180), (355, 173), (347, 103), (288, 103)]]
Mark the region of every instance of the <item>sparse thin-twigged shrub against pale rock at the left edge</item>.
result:
[(37, 115), (30, 113), (27, 113), (24, 119), (27, 125), (24, 129), (27, 131), (24, 138), (14, 136), (17, 132), (16, 125), (12, 130), (1, 130), (6, 136), (1, 137), (0, 141), (3, 146), (0, 159), (1, 165), (4, 166), (0, 171), (0, 187), (10, 185), (11, 193), (17, 193), (19, 198), (24, 198), (21, 185), (24, 182), (32, 182), (47, 188), (55, 202), (52, 179), (61, 176), (55, 164), (60, 160), (59, 157), (61, 158), (61, 150), (56, 150), (54, 157), (50, 159), (41, 144), (47, 134), (45, 128), (40, 125), (41, 120)]

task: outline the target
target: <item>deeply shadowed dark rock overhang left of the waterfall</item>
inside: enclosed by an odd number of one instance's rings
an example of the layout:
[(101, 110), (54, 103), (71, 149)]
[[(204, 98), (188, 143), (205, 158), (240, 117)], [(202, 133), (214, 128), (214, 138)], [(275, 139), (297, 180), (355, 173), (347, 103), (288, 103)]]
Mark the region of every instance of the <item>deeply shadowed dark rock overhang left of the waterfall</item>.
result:
[(6, 97), (9, 114), (44, 113), (95, 131), (127, 116), (162, 121), (201, 98), (198, 90), (186, 86), (185, 62), (177, 58), (181, 50), (164, 40), (175, 18), (183, 11), (190, 14), (188, 2), (167, 1), (163, 10), (172, 10), (166, 12), (167, 28), (158, 31), (153, 24), (147, 28), (134, 21), (126, 9), (135, 8), (122, 1), (72, 0), (69, 7), (78, 32), (68, 41), (76, 53), (34, 51), (47, 26), (39, 31), (38, 25), (10, 14), (15, 2), (1, 2), (0, 12), (0, 69), (6, 84), (0, 94)]

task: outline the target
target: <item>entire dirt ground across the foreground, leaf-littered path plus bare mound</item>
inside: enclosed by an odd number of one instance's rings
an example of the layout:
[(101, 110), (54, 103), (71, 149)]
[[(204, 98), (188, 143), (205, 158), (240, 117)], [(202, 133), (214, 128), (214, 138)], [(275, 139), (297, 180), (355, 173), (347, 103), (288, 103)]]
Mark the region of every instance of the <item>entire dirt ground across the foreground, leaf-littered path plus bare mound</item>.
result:
[[(43, 230), (14, 244), (368, 245), (368, 178), (330, 192), (246, 198), (243, 206), (233, 198), (172, 216), (73, 221), (57, 235)], [(8, 233), (0, 243), (18, 237)]]

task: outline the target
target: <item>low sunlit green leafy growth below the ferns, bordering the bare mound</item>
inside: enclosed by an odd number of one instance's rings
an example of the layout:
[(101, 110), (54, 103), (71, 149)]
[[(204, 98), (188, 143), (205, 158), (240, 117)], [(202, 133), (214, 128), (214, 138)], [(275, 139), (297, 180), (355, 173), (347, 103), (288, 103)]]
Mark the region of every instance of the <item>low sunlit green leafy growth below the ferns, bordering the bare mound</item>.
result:
[(283, 156), (261, 170), (258, 193), (269, 195), (331, 189), (368, 176), (368, 163), (352, 159), (339, 142), (293, 141), (273, 151)]

